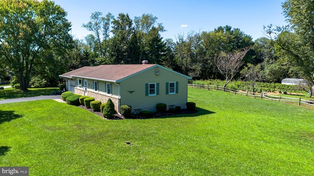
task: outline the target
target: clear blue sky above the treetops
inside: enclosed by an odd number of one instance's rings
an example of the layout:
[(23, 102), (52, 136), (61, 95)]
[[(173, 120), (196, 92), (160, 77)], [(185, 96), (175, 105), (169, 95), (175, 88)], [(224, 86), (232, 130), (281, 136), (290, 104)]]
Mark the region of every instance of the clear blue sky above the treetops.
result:
[(253, 41), (263, 37), (263, 25), (285, 25), (282, 14), (284, 0), (54, 0), (68, 12), (72, 35), (84, 39), (91, 32), (81, 27), (93, 12), (115, 17), (128, 13), (131, 19), (152, 14), (162, 23), (164, 39), (175, 41), (178, 34), (190, 31), (212, 31), (218, 26), (230, 25), (250, 35)]

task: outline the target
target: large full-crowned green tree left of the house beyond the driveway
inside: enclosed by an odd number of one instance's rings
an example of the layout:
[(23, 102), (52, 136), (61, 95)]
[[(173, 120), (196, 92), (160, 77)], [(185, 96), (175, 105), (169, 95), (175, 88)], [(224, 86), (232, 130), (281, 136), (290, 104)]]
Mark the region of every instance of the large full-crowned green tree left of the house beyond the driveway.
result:
[(0, 55), (12, 68), (21, 90), (27, 90), (35, 67), (63, 67), (60, 56), (72, 43), (66, 15), (49, 0), (0, 1)]

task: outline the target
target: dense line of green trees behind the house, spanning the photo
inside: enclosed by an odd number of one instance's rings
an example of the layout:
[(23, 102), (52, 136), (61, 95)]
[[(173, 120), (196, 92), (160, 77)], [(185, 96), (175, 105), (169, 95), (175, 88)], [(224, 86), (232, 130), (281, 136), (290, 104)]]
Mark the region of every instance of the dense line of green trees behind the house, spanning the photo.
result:
[(147, 60), (193, 79), (225, 79), (217, 67), (221, 54), (250, 48), (235, 79), (280, 82), (286, 77), (305, 78), (313, 84), (311, 2), (286, 0), (283, 9), (289, 25), (269, 25), (265, 37), (256, 41), (229, 25), (163, 39), (161, 33), (166, 29), (152, 14), (131, 18), (102, 12), (92, 13), (90, 21), (82, 24), (91, 34), (79, 40), (69, 35), (66, 12), (53, 1), (5, 0), (0, 4), (0, 74), (12, 73), (26, 90), (36, 80), (56, 83), (59, 74), (82, 66)]

